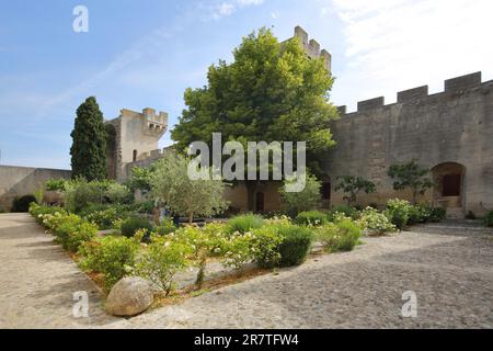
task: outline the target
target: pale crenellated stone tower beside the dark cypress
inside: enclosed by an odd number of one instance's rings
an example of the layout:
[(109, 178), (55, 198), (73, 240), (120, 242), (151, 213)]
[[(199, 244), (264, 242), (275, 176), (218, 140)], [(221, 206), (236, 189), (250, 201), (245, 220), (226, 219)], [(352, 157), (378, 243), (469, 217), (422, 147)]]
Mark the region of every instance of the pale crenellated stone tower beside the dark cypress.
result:
[(168, 113), (153, 109), (142, 112), (122, 110), (121, 115), (106, 122), (111, 135), (107, 160), (110, 178), (123, 182), (127, 179), (127, 166), (141, 160), (158, 149), (159, 139), (168, 129)]

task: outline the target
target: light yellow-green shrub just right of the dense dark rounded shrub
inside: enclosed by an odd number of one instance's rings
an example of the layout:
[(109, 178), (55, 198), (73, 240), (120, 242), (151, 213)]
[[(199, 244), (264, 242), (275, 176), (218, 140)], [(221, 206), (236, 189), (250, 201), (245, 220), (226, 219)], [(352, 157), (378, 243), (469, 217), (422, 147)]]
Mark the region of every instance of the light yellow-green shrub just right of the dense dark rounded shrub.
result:
[(351, 219), (329, 223), (317, 229), (317, 239), (329, 252), (351, 251), (362, 237), (362, 228)]

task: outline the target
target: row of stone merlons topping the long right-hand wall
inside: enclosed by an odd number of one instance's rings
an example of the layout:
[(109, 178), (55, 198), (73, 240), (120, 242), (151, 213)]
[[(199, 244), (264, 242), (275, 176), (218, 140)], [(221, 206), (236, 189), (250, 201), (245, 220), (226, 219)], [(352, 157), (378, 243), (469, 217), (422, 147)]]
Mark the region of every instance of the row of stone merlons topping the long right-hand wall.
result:
[[(443, 92), (429, 94), (428, 86), (417, 87), (409, 90), (399, 91), (397, 93), (397, 103), (412, 103), (421, 101), (431, 97), (437, 97), (439, 94), (461, 93), (471, 89), (481, 88), (483, 86), (493, 82), (482, 82), (481, 72), (474, 72), (467, 76), (451, 78), (445, 81), (445, 90)], [(357, 110), (355, 112), (347, 112), (347, 106), (339, 106), (340, 115), (366, 113), (372, 110), (382, 109), (386, 106), (394, 105), (395, 103), (386, 105), (385, 98), (379, 97), (375, 99), (359, 101), (357, 103)]]

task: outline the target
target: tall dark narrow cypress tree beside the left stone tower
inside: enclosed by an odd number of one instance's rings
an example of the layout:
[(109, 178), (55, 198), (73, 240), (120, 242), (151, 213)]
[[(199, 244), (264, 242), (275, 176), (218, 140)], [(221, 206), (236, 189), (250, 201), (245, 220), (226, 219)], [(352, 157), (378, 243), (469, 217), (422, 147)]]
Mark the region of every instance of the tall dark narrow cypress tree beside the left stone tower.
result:
[(103, 113), (94, 97), (88, 98), (77, 109), (71, 137), (72, 178), (89, 181), (106, 179), (106, 131)]

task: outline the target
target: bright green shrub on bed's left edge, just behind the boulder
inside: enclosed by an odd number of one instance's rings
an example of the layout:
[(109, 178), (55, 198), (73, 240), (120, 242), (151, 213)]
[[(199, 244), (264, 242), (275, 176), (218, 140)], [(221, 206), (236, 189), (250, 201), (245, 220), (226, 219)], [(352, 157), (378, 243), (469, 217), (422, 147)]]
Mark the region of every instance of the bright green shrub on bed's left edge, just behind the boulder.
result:
[(104, 288), (108, 292), (131, 270), (139, 247), (137, 240), (125, 237), (95, 238), (80, 247), (79, 263), (85, 271), (104, 274)]

